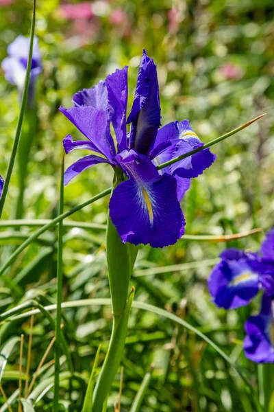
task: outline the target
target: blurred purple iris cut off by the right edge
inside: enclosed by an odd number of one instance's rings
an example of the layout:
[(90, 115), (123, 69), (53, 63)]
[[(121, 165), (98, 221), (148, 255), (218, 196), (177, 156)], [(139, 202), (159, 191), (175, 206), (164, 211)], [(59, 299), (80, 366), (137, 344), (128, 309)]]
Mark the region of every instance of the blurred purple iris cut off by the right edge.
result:
[(260, 253), (227, 249), (221, 253), (209, 279), (213, 301), (225, 309), (249, 304), (261, 289), (260, 314), (245, 323), (245, 356), (258, 363), (274, 362), (274, 228), (267, 233)]

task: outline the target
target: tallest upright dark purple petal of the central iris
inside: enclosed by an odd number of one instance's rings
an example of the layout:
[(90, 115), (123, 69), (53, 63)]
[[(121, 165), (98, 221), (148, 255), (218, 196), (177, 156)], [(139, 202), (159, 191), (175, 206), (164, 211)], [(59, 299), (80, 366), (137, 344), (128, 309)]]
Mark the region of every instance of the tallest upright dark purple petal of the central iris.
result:
[(160, 112), (156, 66), (144, 50), (138, 71), (134, 103), (127, 119), (128, 124), (132, 123), (130, 148), (147, 154), (160, 127)]

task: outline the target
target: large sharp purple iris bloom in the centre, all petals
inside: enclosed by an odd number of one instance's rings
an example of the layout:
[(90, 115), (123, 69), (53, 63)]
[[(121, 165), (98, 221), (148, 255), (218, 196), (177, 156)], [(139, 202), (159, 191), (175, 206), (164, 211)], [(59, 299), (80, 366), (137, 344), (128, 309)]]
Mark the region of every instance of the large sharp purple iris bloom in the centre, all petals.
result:
[[(88, 139), (64, 139), (66, 153), (91, 150), (64, 174), (64, 184), (97, 163), (121, 168), (125, 181), (110, 198), (110, 218), (121, 240), (164, 247), (184, 234), (179, 202), (196, 177), (215, 160), (209, 149), (158, 171), (156, 166), (202, 146), (188, 120), (160, 127), (160, 98), (156, 66), (143, 52), (132, 111), (127, 115), (127, 67), (110, 74), (92, 89), (73, 96), (73, 107), (60, 111)], [(110, 124), (114, 137), (110, 133)], [(131, 124), (127, 133), (127, 124)]]

